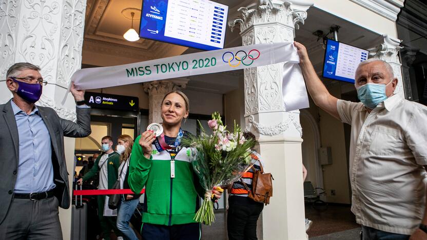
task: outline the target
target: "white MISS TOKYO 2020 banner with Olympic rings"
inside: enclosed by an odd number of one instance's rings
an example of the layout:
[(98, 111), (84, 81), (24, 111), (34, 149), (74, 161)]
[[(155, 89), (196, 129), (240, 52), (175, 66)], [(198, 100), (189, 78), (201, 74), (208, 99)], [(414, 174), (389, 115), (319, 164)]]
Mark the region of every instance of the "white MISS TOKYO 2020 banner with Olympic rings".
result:
[(308, 96), (293, 43), (257, 44), (185, 54), (126, 65), (85, 68), (71, 77), (77, 89), (96, 89), (161, 79), (225, 72), (284, 63), (286, 111), (308, 107)]

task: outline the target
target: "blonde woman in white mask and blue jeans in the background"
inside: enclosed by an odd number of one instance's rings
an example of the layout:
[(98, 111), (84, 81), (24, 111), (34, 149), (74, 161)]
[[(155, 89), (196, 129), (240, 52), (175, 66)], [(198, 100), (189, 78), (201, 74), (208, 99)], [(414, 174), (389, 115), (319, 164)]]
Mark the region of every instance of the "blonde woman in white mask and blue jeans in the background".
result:
[[(117, 141), (117, 152), (120, 154), (120, 188), (129, 189), (127, 178), (129, 176), (130, 153), (132, 152), (133, 139), (129, 135), (119, 136)], [(132, 228), (129, 227), (130, 217), (137, 208), (141, 194), (123, 194), (117, 214), (117, 228), (126, 236), (127, 239), (137, 240), (138, 237)]]

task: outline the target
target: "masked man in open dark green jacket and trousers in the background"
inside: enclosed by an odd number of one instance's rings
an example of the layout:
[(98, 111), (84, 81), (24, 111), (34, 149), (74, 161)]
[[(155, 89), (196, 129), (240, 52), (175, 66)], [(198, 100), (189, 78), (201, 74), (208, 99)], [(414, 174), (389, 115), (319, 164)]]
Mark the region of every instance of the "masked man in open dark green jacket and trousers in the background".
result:
[[(82, 178), (77, 180), (77, 184), (82, 185), (83, 181), (87, 181), (99, 172), (99, 185), (98, 189), (112, 189), (115, 181), (118, 178), (120, 166), (120, 154), (113, 151), (113, 140), (110, 136), (104, 136), (101, 139), (102, 150), (104, 151), (99, 155), (93, 167)], [(114, 230), (117, 239), (123, 239), (123, 234), (117, 229), (115, 225), (115, 216), (104, 216), (104, 208), (107, 206), (105, 195), (98, 195), (98, 217), (103, 232), (104, 239), (110, 239), (111, 229)]]

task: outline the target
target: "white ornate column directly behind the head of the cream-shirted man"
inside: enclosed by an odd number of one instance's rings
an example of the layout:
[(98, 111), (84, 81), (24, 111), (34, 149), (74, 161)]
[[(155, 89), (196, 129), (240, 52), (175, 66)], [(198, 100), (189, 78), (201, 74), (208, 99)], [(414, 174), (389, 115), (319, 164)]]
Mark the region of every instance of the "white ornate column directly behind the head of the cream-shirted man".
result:
[(405, 98), (401, 68), (402, 64), (400, 64), (399, 56), (397, 55), (399, 50), (402, 49), (402, 47), (400, 47), (400, 42), (400, 39), (384, 34), (380, 37), (377, 47), (369, 49), (369, 56), (371, 58), (379, 58), (392, 66), (394, 75), (398, 79), (395, 94)]

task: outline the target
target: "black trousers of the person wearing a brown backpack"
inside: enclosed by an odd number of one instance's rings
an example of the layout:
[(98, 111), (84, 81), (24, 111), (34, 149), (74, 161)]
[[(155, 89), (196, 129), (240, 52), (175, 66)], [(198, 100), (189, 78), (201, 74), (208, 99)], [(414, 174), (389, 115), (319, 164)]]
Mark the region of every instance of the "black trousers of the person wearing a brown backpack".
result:
[(229, 240), (257, 240), (257, 221), (264, 204), (248, 197), (228, 198), (227, 232)]

